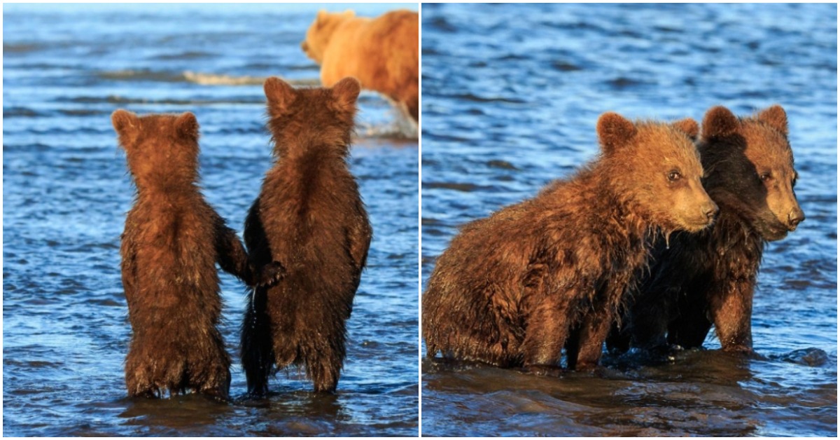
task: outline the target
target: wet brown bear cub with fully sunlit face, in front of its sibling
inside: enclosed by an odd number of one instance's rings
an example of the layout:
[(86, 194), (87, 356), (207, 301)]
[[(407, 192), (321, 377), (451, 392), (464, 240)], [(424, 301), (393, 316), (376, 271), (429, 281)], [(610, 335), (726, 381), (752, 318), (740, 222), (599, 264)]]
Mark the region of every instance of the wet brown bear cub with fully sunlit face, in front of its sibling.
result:
[(423, 295), (427, 356), (537, 373), (594, 368), (657, 230), (700, 231), (717, 206), (700, 183), (697, 123), (598, 119), (602, 154), (537, 197), (465, 225)]

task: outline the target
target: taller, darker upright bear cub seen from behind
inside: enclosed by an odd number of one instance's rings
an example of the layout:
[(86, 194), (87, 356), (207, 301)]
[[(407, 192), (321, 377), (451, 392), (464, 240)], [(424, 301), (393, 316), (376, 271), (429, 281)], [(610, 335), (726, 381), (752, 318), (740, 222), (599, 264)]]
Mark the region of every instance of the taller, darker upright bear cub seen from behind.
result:
[(242, 364), (252, 395), (265, 395), (272, 364), (303, 365), (317, 391), (333, 392), (344, 363), (345, 321), (372, 230), (347, 164), (360, 85), (295, 90), (265, 81), (276, 162), (245, 220), (258, 264), (286, 275), (249, 297)]

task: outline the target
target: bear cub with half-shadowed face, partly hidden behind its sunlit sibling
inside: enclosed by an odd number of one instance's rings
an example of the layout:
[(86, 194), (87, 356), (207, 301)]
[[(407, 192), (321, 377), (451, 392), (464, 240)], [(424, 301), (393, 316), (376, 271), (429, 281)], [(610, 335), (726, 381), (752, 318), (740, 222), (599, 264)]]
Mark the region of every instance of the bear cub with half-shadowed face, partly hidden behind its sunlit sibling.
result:
[(738, 119), (712, 108), (698, 150), (703, 186), (721, 208), (717, 223), (676, 234), (669, 247), (658, 243), (655, 264), (611, 347), (700, 347), (714, 324), (724, 350), (753, 349), (753, 289), (763, 248), (805, 220), (793, 190), (785, 110), (774, 105)]

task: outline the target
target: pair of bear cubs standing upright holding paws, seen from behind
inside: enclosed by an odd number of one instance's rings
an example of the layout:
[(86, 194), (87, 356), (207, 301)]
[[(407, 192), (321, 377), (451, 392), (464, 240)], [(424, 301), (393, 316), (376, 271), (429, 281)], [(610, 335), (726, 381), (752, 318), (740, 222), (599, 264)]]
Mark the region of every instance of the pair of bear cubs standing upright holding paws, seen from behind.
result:
[(129, 395), (228, 399), (217, 262), (252, 290), (242, 346), (249, 391), (264, 395), (272, 365), (291, 363), (305, 366), (316, 390), (335, 390), (371, 237), (346, 162), (359, 92), (354, 78), (297, 91), (265, 82), (276, 163), (246, 220), (247, 252), (197, 186), (195, 116), (113, 113), (137, 188), (120, 251)]

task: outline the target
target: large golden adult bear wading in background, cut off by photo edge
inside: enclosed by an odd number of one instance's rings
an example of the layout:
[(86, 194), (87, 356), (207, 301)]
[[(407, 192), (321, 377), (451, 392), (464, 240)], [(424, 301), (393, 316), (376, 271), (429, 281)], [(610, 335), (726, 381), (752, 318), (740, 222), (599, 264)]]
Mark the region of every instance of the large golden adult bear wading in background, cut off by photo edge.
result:
[(321, 65), (324, 87), (356, 77), (366, 90), (393, 99), (417, 122), (418, 29), (417, 13), (406, 10), (375, 19), (356, 17), (353, 11), (320, 11), (301, 47)]

